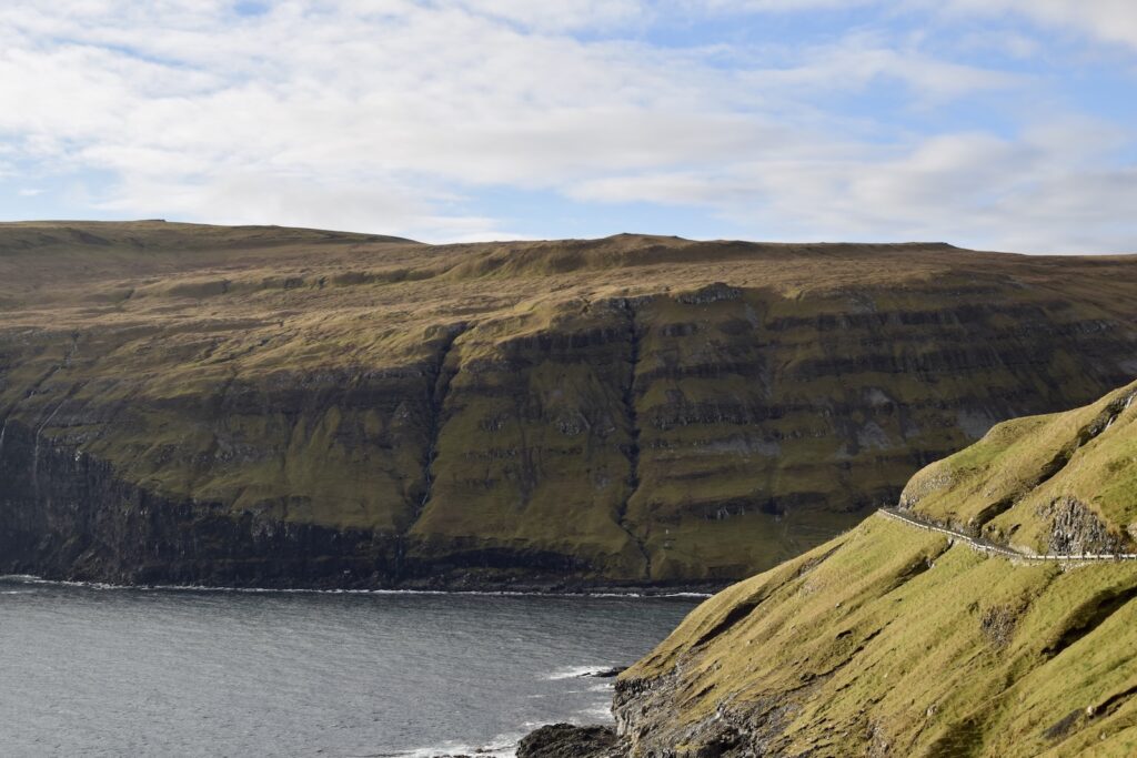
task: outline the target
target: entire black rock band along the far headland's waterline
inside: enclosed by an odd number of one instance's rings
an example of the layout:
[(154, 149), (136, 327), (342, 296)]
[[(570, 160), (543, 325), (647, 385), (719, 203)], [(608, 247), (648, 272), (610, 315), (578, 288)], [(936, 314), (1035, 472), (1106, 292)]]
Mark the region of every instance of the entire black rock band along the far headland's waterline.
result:
[[(123, 585), (516, 592), (712, 591), (711, 583), (606, 582), (571, 556), (468, 550), (408, 555), (408, 539), (174, 501), (106, 463), (7, 426), (0, 458), (0, 574)], [(32, 472), (35, 472), (34, 478)]]

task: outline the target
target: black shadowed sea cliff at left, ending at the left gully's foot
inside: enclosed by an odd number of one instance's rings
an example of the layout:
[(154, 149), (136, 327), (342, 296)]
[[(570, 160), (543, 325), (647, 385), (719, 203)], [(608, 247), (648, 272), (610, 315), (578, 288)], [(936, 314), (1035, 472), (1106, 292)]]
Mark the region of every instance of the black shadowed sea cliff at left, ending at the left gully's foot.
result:
[[(32, 472), (35, 472), (34, 478)], [(0, 476), (0, 570), (121, 584), (382, 586), (398, 542), (289, 524), (219, 503), (171, 501), (106, 463), (8, 424)]]

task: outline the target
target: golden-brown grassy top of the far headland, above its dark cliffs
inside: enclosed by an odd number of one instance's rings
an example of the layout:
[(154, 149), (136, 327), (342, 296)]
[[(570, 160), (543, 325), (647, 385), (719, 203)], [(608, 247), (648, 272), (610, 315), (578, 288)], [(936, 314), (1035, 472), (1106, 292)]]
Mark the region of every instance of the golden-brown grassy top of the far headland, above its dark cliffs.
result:
[[(1128, 319), (1134, 272), (1131, 256), (1024, 257), (944, 243), (699, 242), (620, 234), (428, 245), (275, 226), (19, 222), (0, 224), (0, 328), (177, 322), (184, 330), (219, 319), (318, 333), (358, 332), (362, 323), (380, 319), (388, 331), (397, 325), (393, 339), (373, 341), (374, 359), (402, 353), (399, 338), (421, 336), (431, 326), (548, 316), (566, 303), (679, 293), (715, 282), (788, 299), (848, 288), (903, 292), (929, 282), (980, 284), (1012, 295), (1030, 288), (1086, 297), (1105, 306), (1103, 315)], [(304, 361), (302, 355), (292, 357)]]

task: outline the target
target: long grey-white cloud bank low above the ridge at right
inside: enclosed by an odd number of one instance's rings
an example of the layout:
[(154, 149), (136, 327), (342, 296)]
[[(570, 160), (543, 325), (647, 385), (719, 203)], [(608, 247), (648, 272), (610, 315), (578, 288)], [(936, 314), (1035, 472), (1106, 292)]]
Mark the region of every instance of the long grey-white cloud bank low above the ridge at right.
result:
[[(1137, 166), (1122, 134), (1086, 119), (1011, 141), (940, 135), (845, 158), (582, 182), (582, 200), (700, 205), (785, 240), (944, 240), (1022, 252), (1137, 252)], [(1078, 145), (1071, 149), (1071, 145)]]

